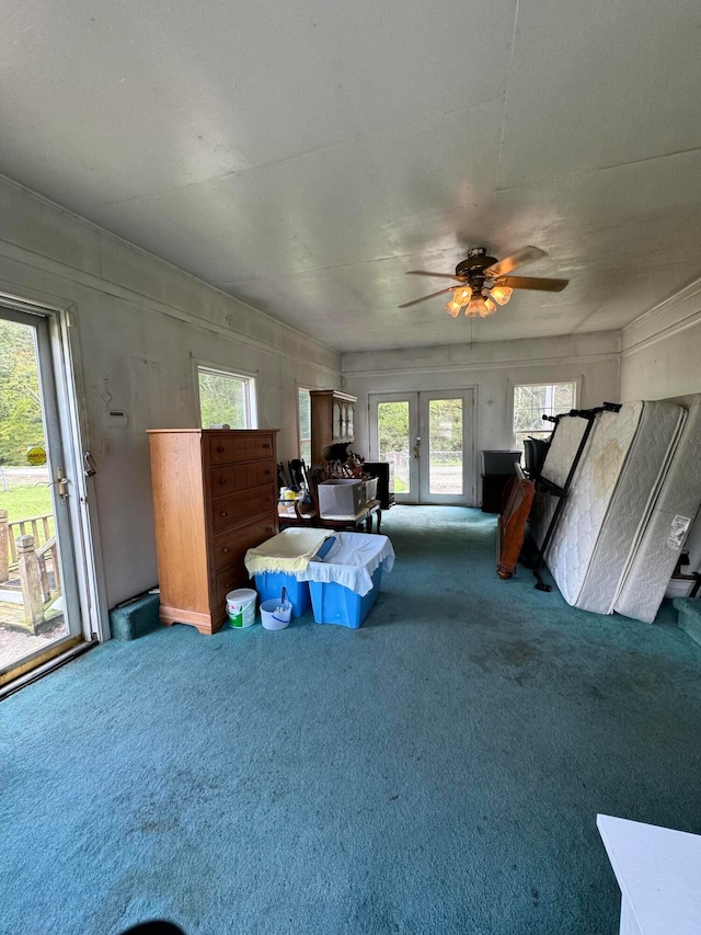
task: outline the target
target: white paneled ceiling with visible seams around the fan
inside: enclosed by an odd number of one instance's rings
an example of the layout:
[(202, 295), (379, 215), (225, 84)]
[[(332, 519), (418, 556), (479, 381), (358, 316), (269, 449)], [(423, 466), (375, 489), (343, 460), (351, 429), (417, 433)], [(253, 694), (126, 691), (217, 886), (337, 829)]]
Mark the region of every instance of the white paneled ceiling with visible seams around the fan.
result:
[[(0, 172), (340, 351), (618, 329), (701, 274), (698, 0), (4, 4)], [(492, 318), (470, 247), (548, 256)]]

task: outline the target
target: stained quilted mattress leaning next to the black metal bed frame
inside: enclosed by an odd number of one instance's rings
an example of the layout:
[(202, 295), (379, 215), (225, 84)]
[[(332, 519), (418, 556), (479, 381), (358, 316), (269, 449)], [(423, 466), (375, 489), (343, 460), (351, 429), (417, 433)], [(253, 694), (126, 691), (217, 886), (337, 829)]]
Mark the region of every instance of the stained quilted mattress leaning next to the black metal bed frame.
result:
[(647, 401), (597, 417), (544, 556), (572, 606), (613, 613), (685, 418)]

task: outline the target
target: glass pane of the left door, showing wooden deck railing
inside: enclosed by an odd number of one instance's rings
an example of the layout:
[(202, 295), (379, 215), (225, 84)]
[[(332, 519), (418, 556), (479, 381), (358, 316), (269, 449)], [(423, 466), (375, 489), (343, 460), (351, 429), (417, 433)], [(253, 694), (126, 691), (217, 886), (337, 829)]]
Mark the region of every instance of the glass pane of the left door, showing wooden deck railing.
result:
[(68, 635), (35, 329), (0, 319), (0, 671)]

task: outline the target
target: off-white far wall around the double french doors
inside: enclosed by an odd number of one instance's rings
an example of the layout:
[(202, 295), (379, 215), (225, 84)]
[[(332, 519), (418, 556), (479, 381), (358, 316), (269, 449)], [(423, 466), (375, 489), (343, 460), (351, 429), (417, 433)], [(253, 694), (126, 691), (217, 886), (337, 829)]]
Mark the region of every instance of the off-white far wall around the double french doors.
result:
[(368, 396), (372, 392), (475, 388), (475, 459), (486, 448), (510, 448), (513, 386), (578, 379), (578, 406), (619, 398), (619, 333), (540, 338), (450, 347), (344, 354), (343, 381), (358, 397), (355, 451), (369, 453)]

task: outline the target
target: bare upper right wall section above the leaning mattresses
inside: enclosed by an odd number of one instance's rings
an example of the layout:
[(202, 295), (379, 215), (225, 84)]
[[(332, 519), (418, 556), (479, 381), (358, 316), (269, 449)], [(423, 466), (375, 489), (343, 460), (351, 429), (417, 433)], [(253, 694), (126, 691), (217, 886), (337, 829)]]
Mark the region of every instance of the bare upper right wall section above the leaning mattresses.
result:
[(621, 351), (624, 401), (701, 392), (701, 281), (624, 328)]

